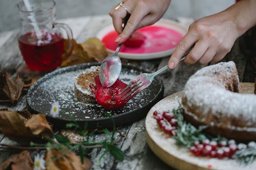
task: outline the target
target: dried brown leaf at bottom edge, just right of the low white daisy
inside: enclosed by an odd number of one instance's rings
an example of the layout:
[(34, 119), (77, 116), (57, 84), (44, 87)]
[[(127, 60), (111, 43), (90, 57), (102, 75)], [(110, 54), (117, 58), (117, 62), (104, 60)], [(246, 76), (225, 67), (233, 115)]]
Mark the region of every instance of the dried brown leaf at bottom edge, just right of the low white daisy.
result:
[[(53, 159), (56, 160), (53, 161)], [(89, 169), (92, 166), (92, 163), (88, 158), (84, 158), (82, 164), (80, 157), (64, 146), (63, 150), (52, 149), (47, 151), (45, 155), (45, 160), (47, 162), (46, 169), (48, 170), (82, 170)]]

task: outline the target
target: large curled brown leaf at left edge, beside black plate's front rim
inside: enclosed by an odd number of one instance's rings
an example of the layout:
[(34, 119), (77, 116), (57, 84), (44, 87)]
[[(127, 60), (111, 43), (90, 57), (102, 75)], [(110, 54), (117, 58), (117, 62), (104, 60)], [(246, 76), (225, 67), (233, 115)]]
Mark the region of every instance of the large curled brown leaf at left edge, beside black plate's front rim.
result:
[(45, 115), (33, 114), (30, 116), (28, 111), (20, 113), (8, 110), (0, 111), (0, 131), (4, 135), (18, 142), (22, 137), (29, 140), (53, 136), (52, 127), (48, 124)]

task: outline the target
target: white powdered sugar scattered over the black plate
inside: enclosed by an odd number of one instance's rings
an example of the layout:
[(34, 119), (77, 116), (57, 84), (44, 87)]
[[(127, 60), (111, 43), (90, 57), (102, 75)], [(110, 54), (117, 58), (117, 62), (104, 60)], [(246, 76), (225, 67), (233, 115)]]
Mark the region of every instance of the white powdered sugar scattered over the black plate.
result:
[[(49, 115), (51, 103), (58, 101), (62, 114), (56, 118), (70, 120), (68, 113), (76, 120), (97, 119), (106, 117), (106, 110), (98, 104), (84, 104), (77, 101), (74, 94), (74, 85), (76, 77), (91, 65), (81, 64), (77, 66), (65, 67), (51, 72), (38, 80), (27, 95), (28, 105), (35, 111)], [(133, 78), (139, 75), (143, 70), (132, 66), (123, 66), (120, 79), (129, 83)], [(140, 92), (134, 99), (127, 102), (126, 106), (117, 111), (109, 111), (114, 116), (123, 113), (134, 112), (151, 104), (159, 97), (162, 89), (162, 81), (155, 78), (151, 87)], [(154, 88), (153, 88), (154, 87)], [(146, 113), (145, 113), (146, 114)], [(51, 116), (51, 115), (49, 115)]]

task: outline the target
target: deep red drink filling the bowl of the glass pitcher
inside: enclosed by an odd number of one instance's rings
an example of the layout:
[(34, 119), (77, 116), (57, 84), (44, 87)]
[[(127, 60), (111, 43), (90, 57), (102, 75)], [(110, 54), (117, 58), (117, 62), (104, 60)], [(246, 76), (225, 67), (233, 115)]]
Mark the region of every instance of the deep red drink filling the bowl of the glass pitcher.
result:
[(28, 32), (18, 38), (19, 49), (28, 67), (35, 71), (56, 68), (61, 62), (64, 39), (57, 33), (41, 31), (38, 40), (35, 32)]

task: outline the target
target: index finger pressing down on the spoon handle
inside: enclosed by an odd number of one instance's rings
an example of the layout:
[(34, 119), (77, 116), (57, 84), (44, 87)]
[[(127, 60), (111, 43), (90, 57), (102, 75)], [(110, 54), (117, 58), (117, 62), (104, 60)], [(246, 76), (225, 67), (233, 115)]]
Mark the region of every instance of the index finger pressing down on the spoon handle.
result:
[(136, 30), (136, 27), (139, 25), (141, 19), (146, 16), (146, 14), (146, 10), (141, 10), (141, 5), (137, 5), (127, 21), (125, 28), (117, 37), (115, 42), (118, 44), (123, 43)]

